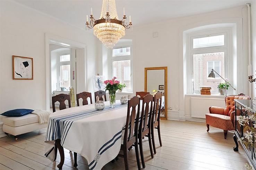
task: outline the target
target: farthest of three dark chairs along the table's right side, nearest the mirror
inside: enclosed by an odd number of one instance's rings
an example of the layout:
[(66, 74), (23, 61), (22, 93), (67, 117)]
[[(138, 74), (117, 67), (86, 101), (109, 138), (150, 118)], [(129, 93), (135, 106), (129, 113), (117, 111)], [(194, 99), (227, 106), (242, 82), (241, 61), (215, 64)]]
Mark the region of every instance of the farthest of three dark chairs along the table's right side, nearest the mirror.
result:
[(160, 134), (161, 104), (162, 104), (162, 93), (157, 92), (154, 97), (153, 114), (152, 114), (152, 118), (151, 118), (151, 136), (152, 136), (152, 144), (153, 144), (154, 153), (156, 153), (154, 128), (157, 129), (159, 143), (160, 143), (160, 146), (162, 146), (162, 140), (161, 140), (161, 134)]

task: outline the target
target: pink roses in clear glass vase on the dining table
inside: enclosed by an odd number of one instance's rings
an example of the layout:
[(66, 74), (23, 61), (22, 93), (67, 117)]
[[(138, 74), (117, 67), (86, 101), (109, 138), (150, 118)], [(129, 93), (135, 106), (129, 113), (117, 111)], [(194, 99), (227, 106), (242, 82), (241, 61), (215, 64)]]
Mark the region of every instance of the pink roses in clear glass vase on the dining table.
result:
[(116, 105), (116, 91), (120, 89), (120, 81), (116, 80), (116, 77), (113, 77), (112, 80), (105, 80), (106, 84), (105, 89), (109, 91), (109, 103), (110, 107), (114, 107)]

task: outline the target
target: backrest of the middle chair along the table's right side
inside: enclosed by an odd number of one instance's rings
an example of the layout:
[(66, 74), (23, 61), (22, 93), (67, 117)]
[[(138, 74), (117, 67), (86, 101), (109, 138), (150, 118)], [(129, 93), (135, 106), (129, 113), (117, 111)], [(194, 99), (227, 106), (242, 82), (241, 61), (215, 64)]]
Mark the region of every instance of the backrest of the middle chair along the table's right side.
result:
[(139, 132), (143, 132), (145, 131), (145, 129), (150, 127), (152, 110), (153, 110), (153, 96), (150, 94), (147, 94), (142, 99), (142, 111), (140, 115)]

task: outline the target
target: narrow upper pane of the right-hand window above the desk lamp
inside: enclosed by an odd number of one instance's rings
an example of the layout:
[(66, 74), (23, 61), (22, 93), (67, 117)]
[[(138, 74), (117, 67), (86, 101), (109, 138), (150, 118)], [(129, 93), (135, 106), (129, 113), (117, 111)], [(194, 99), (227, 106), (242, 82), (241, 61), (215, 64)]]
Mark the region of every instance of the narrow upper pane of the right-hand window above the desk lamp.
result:
[(224, 35), (208, 36), (193, 39), (193, 48), (215, 47), (224, 45)]

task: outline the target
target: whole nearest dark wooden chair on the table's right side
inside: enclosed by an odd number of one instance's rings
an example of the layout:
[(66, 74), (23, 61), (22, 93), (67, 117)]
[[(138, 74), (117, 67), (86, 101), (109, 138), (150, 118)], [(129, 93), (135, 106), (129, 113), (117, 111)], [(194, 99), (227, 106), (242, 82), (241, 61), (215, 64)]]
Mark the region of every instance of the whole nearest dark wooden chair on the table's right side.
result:
[[(136, 106), (138, 106), (137, 113), (136, 113)], [(130, 100), (128, 100), (127, 107), (128, 108), (127, 108), (127, 118), (126, 118), (126, 125), (125, 125), (125, 135), (123, 137), (123, 144), (121, 144), (121, 149), (120, 149), (121, 151), (123, 151), (123, 155), (118, 155), (118, 156), (123, 156), (125, 161), (125, 169), (128, 170), (129, 169), (128, 149), (134, 145), (137, 166), (138, 166), (138, 169), (140, 169), (139, 150), (138, 150), (138, 122), (139, 122), (139, 108), (140, 108), (139, 97), (135, 96)]]

